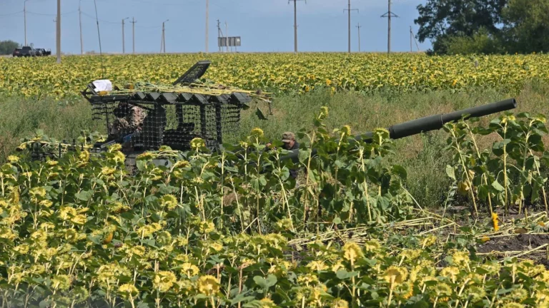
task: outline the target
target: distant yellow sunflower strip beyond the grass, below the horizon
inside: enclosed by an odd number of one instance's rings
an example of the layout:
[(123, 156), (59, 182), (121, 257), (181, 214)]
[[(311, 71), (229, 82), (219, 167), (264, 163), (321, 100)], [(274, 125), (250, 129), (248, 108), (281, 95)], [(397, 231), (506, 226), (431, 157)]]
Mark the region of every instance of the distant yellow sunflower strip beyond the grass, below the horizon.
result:
[(47, 58), (0, 58), (0, 92), (26, 97), (79, 95), (86, 84), (109, 78), (117, 84), (172, 83), (194, 63), (212, 61), (204, 78), (239, 88), (273, 92), (432, 91), (510, 88), (549, 80), (549, 56), (426, 56), (375, 53), (249, 53), (66, 56), (57, 65)]

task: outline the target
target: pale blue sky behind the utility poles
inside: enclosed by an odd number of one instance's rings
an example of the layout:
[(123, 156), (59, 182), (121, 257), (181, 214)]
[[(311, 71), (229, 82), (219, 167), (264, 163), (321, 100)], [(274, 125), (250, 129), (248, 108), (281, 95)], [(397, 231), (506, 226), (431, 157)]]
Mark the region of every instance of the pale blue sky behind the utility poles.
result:
[[(126, 52), (132, 52), (132, 17), (135, 19), (136, 53), (160, 51), (162, 22), (165, 23), (166, 52), (205, 51), (206, 0), (96, 0), (99, 31), (105, 53), (122, 53), (122, 19), (125, 21)], [(290, 0), (292, 1), (292, 0)], [(410, 26), (417, 5), (426, 0), (393, 0), (392, 51), (410, 51)], [(85, 51), (99, 52), (94, 0), (61, 0), (61, 51), (80, 53), (79, 4)], [(351, 48), (358, 51), (387, 51), (387, 0), (351, 0)], [(24, 0), (0, 0), (0, 41), (24, 43)], [(347, 0), (297, 2), (299, 51), (347, 51)], [(26, 1), (27, 42), (34, 48), (55, 52), (56, 0)], [(241, 52), (294, 51), (294, 6), (288, 0), (209, 0), (209, 52), (218, 51), (217, 19), (225, 35), (240, 36)], [(420, 43), (420, 50), (431, 48)], [(414, 51), (417, 48), (414, 43)]]

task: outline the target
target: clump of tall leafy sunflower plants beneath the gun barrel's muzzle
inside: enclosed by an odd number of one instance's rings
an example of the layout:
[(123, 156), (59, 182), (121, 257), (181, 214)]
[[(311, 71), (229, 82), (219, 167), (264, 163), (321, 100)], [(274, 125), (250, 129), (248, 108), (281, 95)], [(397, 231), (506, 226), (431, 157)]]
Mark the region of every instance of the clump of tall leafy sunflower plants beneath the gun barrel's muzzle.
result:
[[(549, 210), (545, 194), (548, 175), (540, 171), (547, 157), (543, 144), (543, 136), (548, 133), (545, 122), (541, 115), (506, 113), (490, 122), (488, 128), (471, 128), (463, 120), (445, 125), (450, 133), (447, 148), (455, 154), (455, 167), (448, 166), (447, 175), (459, 182), (460, 193), (470, 197), (472, 212), (478, 215), (479, 201), (486, 202), (490, 213), (498, 206), (505, 207), (507, 213), (512, 205), (521, 213), (526, 204), (542, 204)], [(479, 148), (478, 136), (492, 133), (499, 140), (491, 150)]]

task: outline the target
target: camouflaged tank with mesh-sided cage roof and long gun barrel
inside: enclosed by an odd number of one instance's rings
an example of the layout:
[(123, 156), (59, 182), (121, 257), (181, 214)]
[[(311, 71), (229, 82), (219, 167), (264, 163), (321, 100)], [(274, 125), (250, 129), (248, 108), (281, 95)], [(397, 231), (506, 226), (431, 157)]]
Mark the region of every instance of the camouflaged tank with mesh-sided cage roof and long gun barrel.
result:
[[(162, 146), (169, 146), (173, 150), (186, 151), (190, 148), (193, 138), (202, 138), (210, 150), (218, 150), (224, 143), (225, 135), (232, 135), (239, 130), (241, 111), (249, 108), (254, 98), (262, 99), (270, 104), (269, 97), (261, 91), (244, 91), (220, 86), (207, 88), (200, 86), (199, 79), (209, 67), (209, 61), (199, 61), (186, 73), (179, 77), (171, 87), (155, 87), (154, 85), (139, 86), (138, 88), (114, 88), (114, 91), (99, 91), (95, 83), (89, 83), (82, 96), (91, 104), (94, 120), (99, 120), (107, 126), (108, 138), (102, 143), (96, 143), (92, 153), (107, 150), (114, 143), (122, 144), (122, 152), (126, 154), (127, 165), (135, 164), (135, 158), (145, 151), (159, 150)], [(110, 81), (107, 81), (110, 83)], [(111, 85), (112, 86), (112, 85)], [(269, 105), (270, 106), (270, 105)], [(139, 107), (142, 113), (142, 126), (138, 133), (134, 128), (122, 125), (112, 133), (114, 123), (127, 114), (124, 108)], [(490, 103), (483, 106), (468, 108), (447, 114), (427, 116), (417, 120), (392, 125), (387, 128), (390, 138), (400, 139), (410, 135), (426, 133), (431, 130), (440, 130), (446, 123), (461, 118), (482, 117), (490, 114), (509, 111), (517, 107), (515, 98)], [(126, 117), (127, 118), (127, 117)], [(124, 124), (124, 123), (122, 123)], [(126, 123), (127, 124), (127, 123)], [(131, 125), (130, 125), (131, 126)], [(128, 129), (127, 129), (128, 128)], [(126, 130), (127, 129), (127, 130)], [(355, 136), (357, 142), (369, 142), (373, 133)], [(36, 142), (32, 144), (32, 158), (35, 160), (59, 158), (64, 151), (74, 150), (81, 145), (63, 142), (59, 147), (44, 153), (44, 147)], [(313, 149), (313, 155), (316, 150)], [(238, 155), (238, 154), (237, 154)], [(281, 160), (297, 161), (299, 150), (290, 151), (282, 156)], [(158, 160), (154, 163), (169, 165), (167, 160)]]

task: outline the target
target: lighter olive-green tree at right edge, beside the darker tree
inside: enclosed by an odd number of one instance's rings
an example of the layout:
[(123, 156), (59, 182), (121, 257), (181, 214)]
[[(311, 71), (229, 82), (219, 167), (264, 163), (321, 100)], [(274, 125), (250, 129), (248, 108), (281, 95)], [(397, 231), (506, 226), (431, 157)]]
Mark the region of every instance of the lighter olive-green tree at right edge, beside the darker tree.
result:
[(504, 37), (511, 53), (549, 52), (549, 0), (509, 0)]

